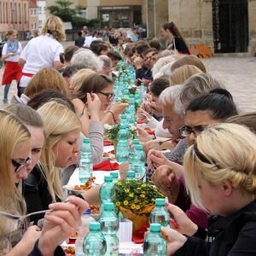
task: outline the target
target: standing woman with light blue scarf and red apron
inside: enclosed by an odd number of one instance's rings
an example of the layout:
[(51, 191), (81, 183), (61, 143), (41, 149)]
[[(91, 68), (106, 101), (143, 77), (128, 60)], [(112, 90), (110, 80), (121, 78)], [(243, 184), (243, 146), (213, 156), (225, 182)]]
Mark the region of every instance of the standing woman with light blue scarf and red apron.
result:
[(17, 40), (17, 32), (13, 29), (7, 32), (7, 43), (3, 44), (2, 60), (5, 61), (3, 72), (2, 84), (3, 90), (3, 103), (8, 103), (9, 87), (13, 80), (18, 83), (20, 81), (21, 68), (18, 65), (22, 47)]

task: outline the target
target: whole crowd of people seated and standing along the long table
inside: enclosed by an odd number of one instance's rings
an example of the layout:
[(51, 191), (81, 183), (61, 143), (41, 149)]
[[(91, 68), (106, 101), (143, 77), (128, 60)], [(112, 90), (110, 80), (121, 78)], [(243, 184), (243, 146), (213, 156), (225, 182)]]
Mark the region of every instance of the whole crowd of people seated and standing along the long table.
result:
[[(168, 199), (167, 254), (256, 254), (256, 113), (239, 113), (173, 22), (160, 31), (166, 48), (108, 28), (99, 38), (84, 27), (75, 45), (63, 49), (64, 26), (54, 15), (24, 49), (17, 32), (7, 32), (2, 84), (3, 103), (10, 104), (0, 110), (0, 212), (52, 211), (30, 223), (0, 214), (0, 254), (63, 255), (61, 242), (78, 230), (89, 205), (100, 203), (100, 186), (67, 201), (62, 185), (84, 137), (93, 163), (102, 162), (103, 125), (119, 124), (129, 107), (113, 102), (121, 60), (134, 67), (137, 88), (147, 88), (137, 119), (154, 135), (137, 127), (137, 138), (147, 154), (147, 180)], [(18, 90), (9, 102), (13, 80)], [(119, 166), (122, 177), (129, 168)]]

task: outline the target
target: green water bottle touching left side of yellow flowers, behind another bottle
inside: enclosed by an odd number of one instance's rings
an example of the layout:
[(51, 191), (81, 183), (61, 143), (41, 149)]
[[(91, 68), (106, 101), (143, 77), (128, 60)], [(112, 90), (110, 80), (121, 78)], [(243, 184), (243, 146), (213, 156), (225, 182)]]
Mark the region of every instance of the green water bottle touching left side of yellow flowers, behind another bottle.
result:
[(103, 204), (107, 202), (112, 202), (114, 196), (114, 189), (113, 189), (113, 177), (112, 176), (105, 176), (104, 183), (100, 189), (100, 198), (102, 201), (102, 205), (100, 207), (100, 212), (103, 210)]

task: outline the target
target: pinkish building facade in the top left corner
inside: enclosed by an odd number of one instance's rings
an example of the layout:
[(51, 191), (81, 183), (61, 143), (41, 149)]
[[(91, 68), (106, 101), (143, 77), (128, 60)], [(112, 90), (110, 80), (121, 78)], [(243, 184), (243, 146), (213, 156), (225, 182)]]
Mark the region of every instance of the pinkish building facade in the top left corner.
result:
[(25, 32), (29, 29), (29, 1), (0, 0), (0, 32), (15, 29)]

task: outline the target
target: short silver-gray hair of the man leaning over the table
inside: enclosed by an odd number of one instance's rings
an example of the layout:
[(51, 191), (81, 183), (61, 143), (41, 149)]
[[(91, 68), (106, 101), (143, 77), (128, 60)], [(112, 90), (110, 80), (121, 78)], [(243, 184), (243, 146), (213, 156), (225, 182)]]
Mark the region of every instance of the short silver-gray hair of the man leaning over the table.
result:
[(183, 84), (177, 84), (166, 88), (160, 94), (159, 101), (164, 105), (173, 105), (173, 110), (179, 117), (185, 115), (183, 104), (180, 101), (180, 94), (183, 90)]

